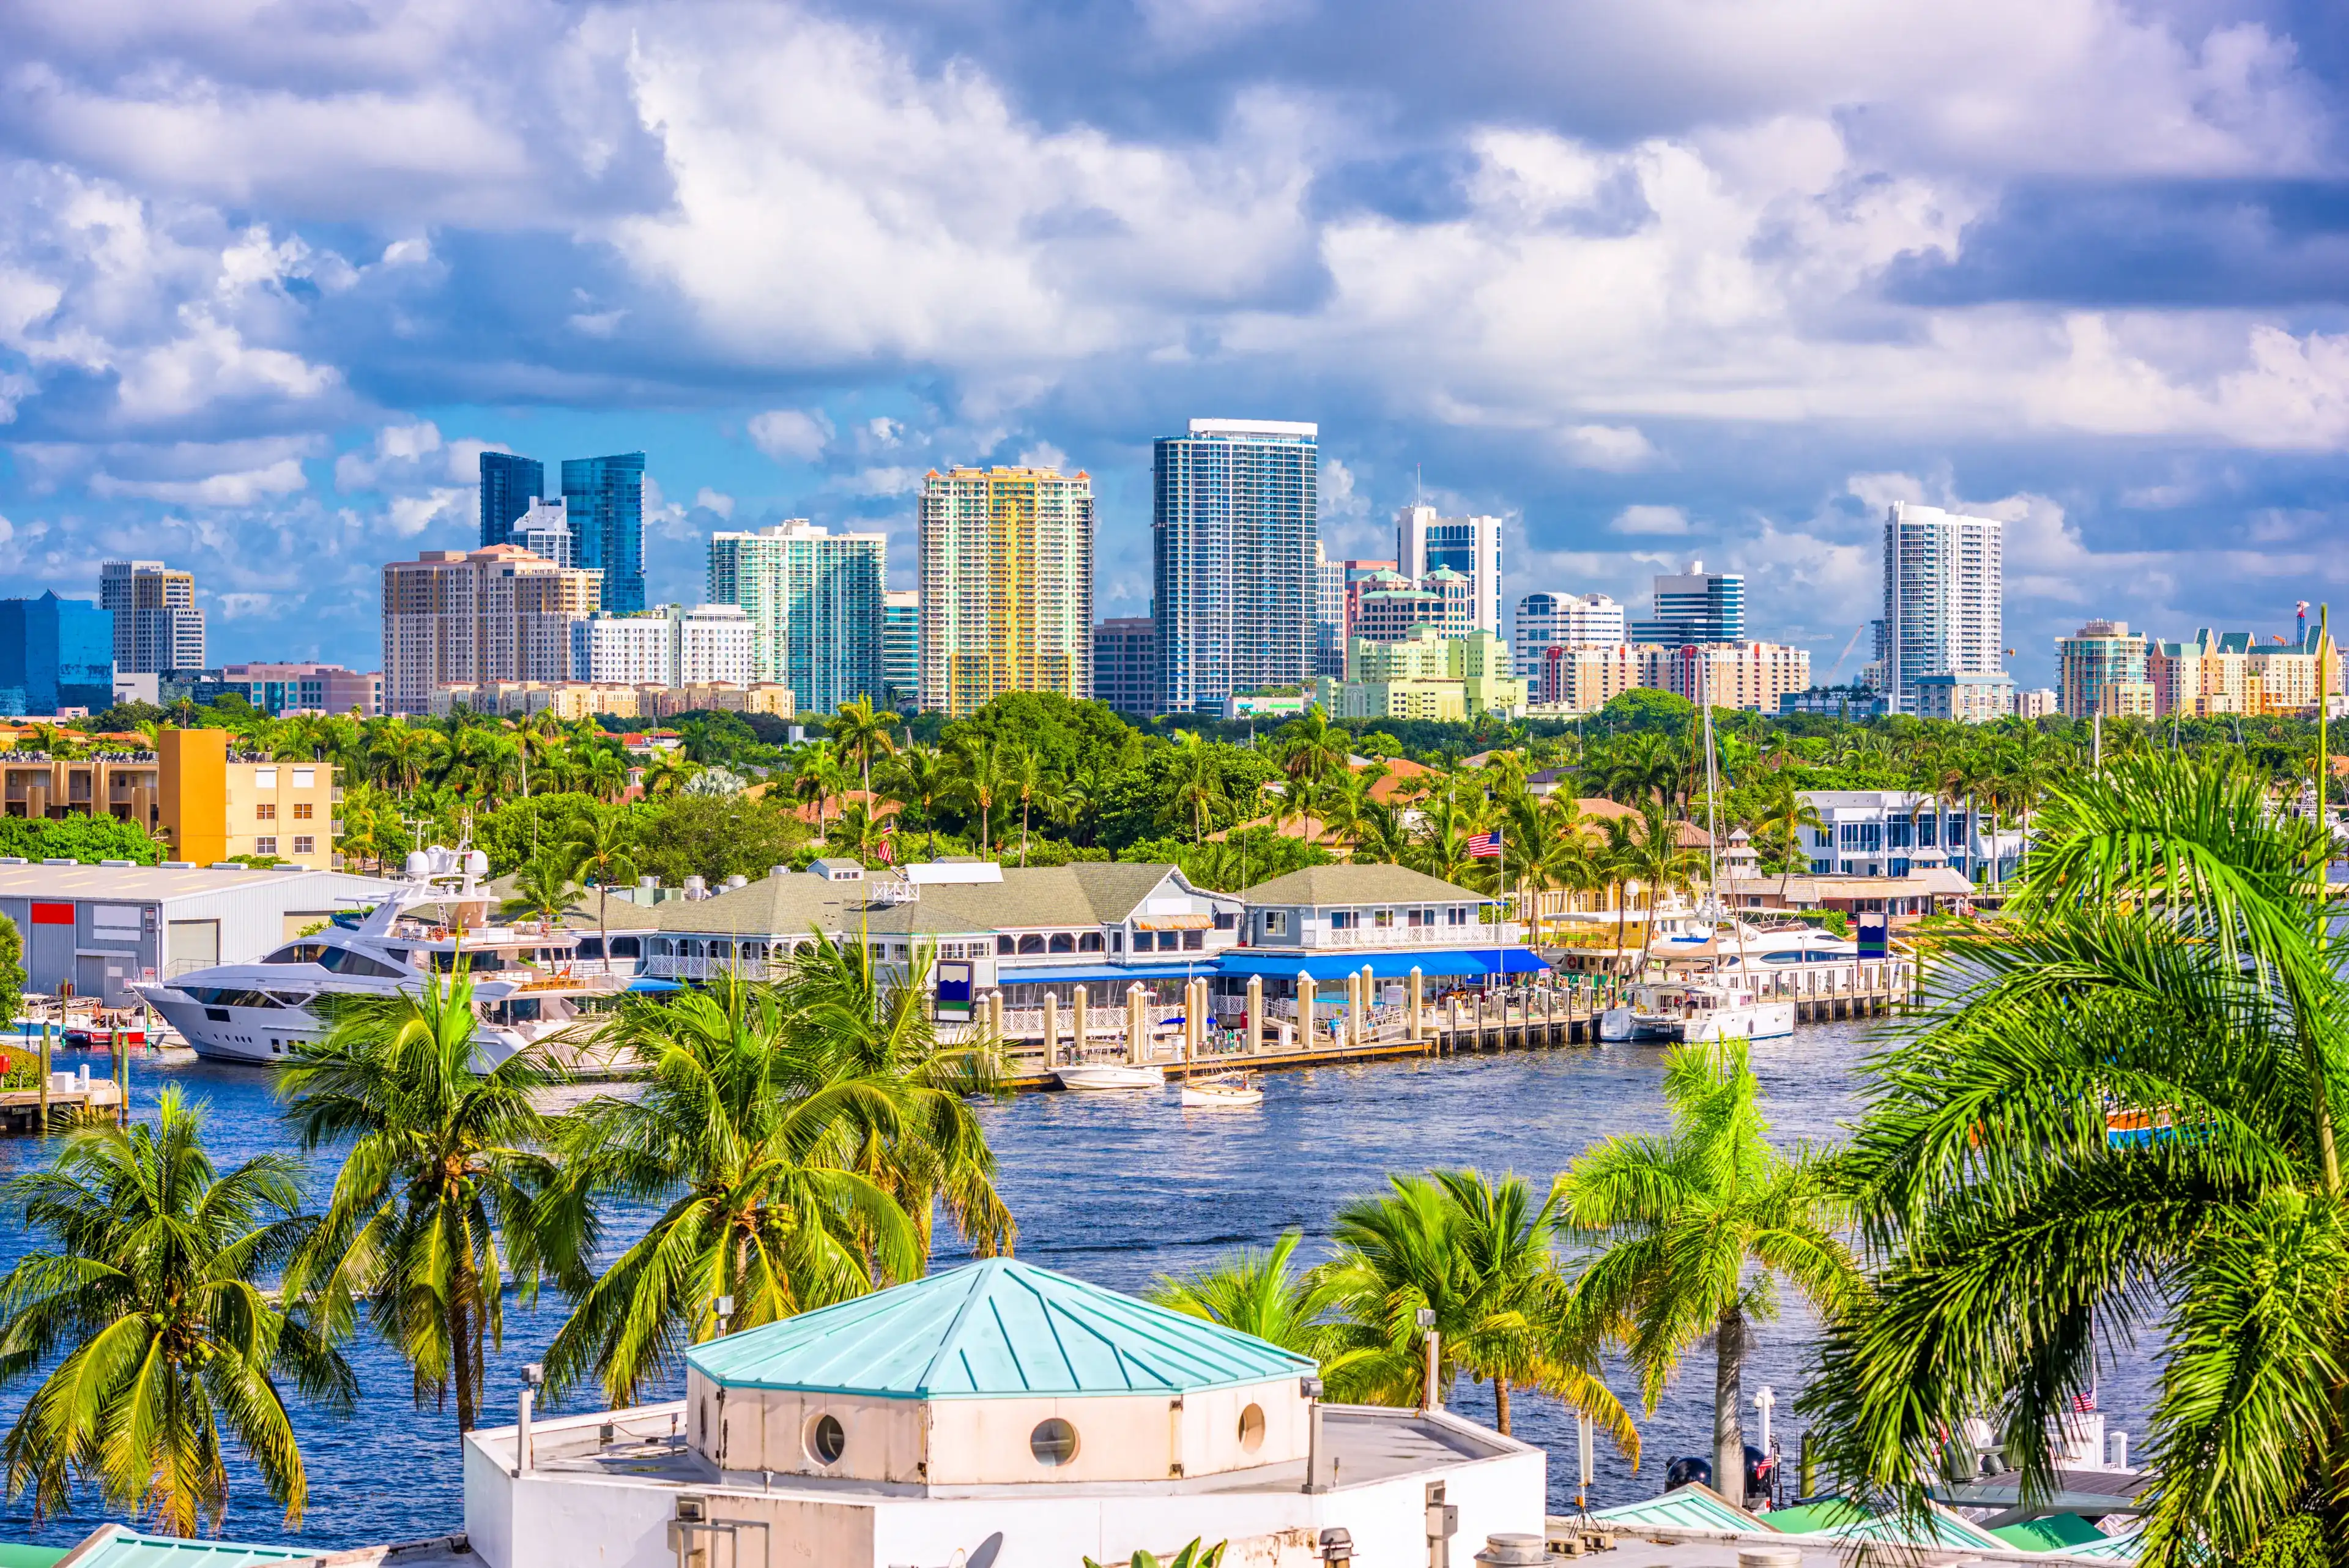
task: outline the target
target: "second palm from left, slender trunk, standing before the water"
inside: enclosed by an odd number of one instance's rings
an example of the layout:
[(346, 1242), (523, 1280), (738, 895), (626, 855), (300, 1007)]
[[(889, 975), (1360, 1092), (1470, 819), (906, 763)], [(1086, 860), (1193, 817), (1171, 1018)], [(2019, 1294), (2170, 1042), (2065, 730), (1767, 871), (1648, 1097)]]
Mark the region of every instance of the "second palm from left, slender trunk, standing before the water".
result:
[(432, 976), (383, 997), (319, 997), (327, 1037), (277, 1074), (303, 1150), (350, 1140), (324, 1225), (289, 1274), (341, 1335), (362, 1302), (413, 1371), (416, 1406), (456, 1389), (458, 1432), (479, 1413), (484, 1340), (505, 1335), (505, 1286), (536, 1293), (550, 1251), (533, 1208), (552, 1175), (531, 1093), (557, 1072), (517, 1053), (477, 1072), (472, 978)]

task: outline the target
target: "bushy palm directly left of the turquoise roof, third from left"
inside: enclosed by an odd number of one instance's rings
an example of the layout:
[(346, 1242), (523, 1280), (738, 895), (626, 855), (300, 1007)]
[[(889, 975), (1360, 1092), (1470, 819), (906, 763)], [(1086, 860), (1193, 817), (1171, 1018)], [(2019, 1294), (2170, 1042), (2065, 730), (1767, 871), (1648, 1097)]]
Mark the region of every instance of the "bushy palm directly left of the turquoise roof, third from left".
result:
[(599, 1197), (665, 1208), (578, 1293), (550, 1387), (597, 1378), (622, 1406), (686, 1345), (921, 1274), (921, 1227), (853, 1168), (860, 1124), (895, 1126), (895, 1095), (867, 1077), (801, 1084), (785, 990), (721, 976), (662, 1006), (627, 997), (608, 1039), (648, 1081), (571, 1117), (554, 1215), (585, 1255)]

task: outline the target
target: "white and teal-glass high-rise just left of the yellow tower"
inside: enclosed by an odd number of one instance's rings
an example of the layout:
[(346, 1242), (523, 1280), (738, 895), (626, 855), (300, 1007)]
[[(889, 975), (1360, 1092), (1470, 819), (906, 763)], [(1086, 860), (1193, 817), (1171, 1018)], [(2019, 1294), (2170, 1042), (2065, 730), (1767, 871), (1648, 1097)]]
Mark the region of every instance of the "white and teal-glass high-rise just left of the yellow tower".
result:
[(799, 712), (888, 703), (888, 534), (834, 534), (806, 517), (709, 536), (707, 597), (752, 625), (752, 679), (789, 686)]

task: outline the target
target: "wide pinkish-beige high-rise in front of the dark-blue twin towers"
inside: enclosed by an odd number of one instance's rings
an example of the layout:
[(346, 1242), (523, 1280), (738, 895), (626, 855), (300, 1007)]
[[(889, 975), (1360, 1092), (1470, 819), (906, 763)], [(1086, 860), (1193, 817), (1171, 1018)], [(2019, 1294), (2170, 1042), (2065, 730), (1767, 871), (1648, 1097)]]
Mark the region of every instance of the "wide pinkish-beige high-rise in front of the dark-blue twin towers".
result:
[(435, 686), (571, 679), (571, 625), (599, 609), (597, 590), (597, 571), (519, 545), (385, 564), (385, 710), (430, 712)]

